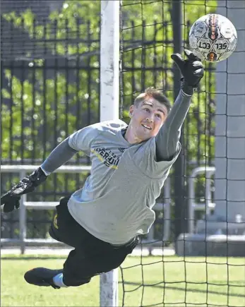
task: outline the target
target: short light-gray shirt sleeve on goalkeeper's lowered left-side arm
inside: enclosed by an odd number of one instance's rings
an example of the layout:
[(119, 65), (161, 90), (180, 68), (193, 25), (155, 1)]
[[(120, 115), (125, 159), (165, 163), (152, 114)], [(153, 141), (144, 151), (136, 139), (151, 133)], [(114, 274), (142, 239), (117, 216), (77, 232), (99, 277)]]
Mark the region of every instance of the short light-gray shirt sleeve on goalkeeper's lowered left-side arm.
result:
[(71, 134), (68, 144), (73, 150), (81, 150), (86, 155), (90, 155), (92, 141), (97, 137), (97, 125), (90, 125)]

